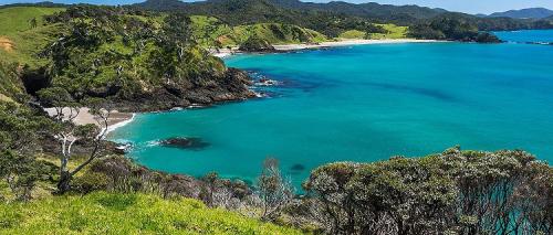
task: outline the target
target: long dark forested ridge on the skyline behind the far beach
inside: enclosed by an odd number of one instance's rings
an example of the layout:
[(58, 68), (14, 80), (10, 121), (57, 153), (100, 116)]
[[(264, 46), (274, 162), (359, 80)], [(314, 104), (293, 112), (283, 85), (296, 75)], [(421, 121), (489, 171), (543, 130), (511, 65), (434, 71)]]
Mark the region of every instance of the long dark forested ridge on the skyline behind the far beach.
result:
[[(418, 19), (429, 19), (447, 12), (444, 9), (430, 9), (418, 6), (392, 6), (369, 3), (348, 3), (343, 1), (332, 1), (328, 3), (302, 2), (299, 0), (207, 0), (198, 2), (181, 2), (179, 0), (147, 0), (133, 4), (148, 10), (180, 10), (194, 14), (219, 14), (220, 19), (228, 18), (229, 13), (241, 13), (243, 18), (240, 23), (259, 22), (255, 18), (292, 20), (298, 19), (303, 13), (314, 14), (331, 13), (347, 17), (358, 17), (379, 21), (395, 21), (408, 23)], [(238, 15), (237, 15), (238, 17)], [(238, 20), (238, 19), (237, 19)], [(255, 20), (252, 22), (252, 20)], [(301, 20), (300, 20), (301, 21)], [(232, 22), (230, 22), (232, 23)], [(296, 23), (296, 22), (286, 22)]]

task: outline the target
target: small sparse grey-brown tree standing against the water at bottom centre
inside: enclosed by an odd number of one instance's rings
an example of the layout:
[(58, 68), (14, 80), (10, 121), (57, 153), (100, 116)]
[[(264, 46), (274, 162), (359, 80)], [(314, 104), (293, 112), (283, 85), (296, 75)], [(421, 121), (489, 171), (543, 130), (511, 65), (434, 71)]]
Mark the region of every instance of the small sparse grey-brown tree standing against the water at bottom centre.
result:
[(282, 178), (279, 161), (268, 158), (257, 182), (258, 195), (261, 199), (262, 220), (274, 220), (293, 197), (294, 191), (290, 181)]

